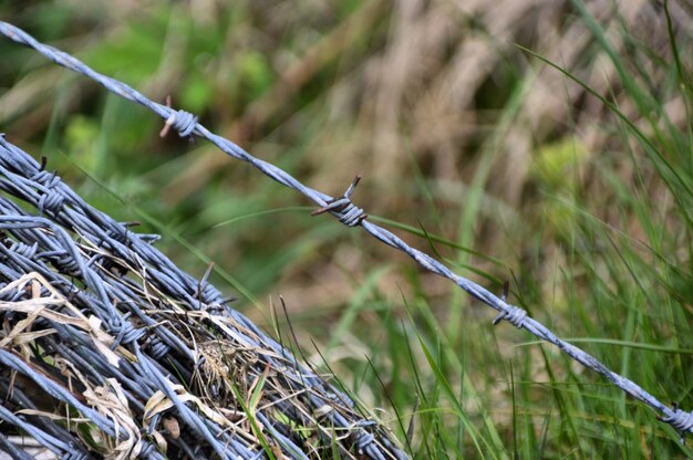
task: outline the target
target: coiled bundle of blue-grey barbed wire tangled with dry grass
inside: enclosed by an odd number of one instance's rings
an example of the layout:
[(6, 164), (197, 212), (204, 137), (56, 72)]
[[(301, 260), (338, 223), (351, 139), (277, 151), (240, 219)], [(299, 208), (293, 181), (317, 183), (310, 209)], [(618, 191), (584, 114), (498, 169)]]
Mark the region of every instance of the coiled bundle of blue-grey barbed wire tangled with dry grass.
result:
[(0, 191), (0, 451), (31, 459), (31, 438), (63, 459), (406, 458), (157, 236), (2, 135)]

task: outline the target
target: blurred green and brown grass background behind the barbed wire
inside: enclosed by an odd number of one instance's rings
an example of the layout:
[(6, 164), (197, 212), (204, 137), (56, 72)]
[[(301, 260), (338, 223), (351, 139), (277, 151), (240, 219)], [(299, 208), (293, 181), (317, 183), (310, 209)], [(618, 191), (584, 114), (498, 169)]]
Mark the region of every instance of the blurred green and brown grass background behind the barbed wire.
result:
[[(693, 408), (693, 7), (609, 0), (0, 2)], [(535, 54), (536, 53), (536, 54)], [(205, 142), (0, 40), (0, 132), (236, 294), (418, 458), (691, 456), (654, 414)], [(551, 65), (552, 64), (552, 65)], [(320, 356), (318, 354), (320, 352)], [(430, 352), (430, 356), (426, 353)], [(416, 402), (418, 400), (418, 402)], [(414, 417), (411, 439), (406, 429)]]

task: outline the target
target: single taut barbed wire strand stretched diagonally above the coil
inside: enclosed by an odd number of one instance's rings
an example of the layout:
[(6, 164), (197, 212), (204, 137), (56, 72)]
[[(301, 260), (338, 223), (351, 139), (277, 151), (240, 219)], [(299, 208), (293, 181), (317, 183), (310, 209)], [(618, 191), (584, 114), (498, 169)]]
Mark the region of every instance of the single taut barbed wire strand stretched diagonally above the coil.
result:
[(217, 147), (219, 147), (219, 149), (221, 149), (227, 155), (251, 164), (261, 172), (275, 179), (276, 181), (289, 188), (298, 190), (299, 192), (311, 199), (320, 207), (320, 209), (317, 211), (318, 213), (330, 212), (331, 215), (337, 217), (342, 223), (349, 227), (361, 226), (371, 236), (408, 254), (426, 270), (452, 280), (469, 295), (498, 312), (498, 316), (494, 321), (494, 324), (506, 320), (516, 327), (527, 330), (542, 341), (556, 345), (560, 351), (562, 351), (565, 354), (570, 356), (572, 359), (579, 362), (583, 366), (604, 375), (609, 380), (613, 383), (613, 385), (621, 388), (628, 395), (660, 411), (663, 415), (660, 420), (673, 426), (681, 433), (682, 442), (683, 437), (686, 432), (693, 432), (693, 411), (686, 412), (684, 410), (681, 410), (675, 405), (673, 408), (670, 408), (666, 405), (660, 402), (656, 398), (654, 398), (635, 383), (613, 373), (593, 356), (560, 339), (542, 324), (529, 317), (523, 309), (508, 304), (505, 301), (505, 297), (498, 297), (486, 289), (479, 286), (478, 284), (457, 275), (437, 260), (433, 259), (432, 257), (420, 250), (411, 248), (403, 240), (401, 240), (390, 231), (370, 222), (364, 211), (355, 207), (350, 200), (350, 195), (353, 191), (353, 188), (355, 187), (359, 179), (356, 179), (352, 184), (352, 186), (349, 188), (343, 197), (334, 199), (329, 195), (322, 194), (318, 190), (304, 186), (278, 167), (261, 159), (255, 158), (252, 155), (248, 154), (230, 140), (210, 133), (207, 128), (197, 123), (197, 117), (195, 117), (194, 115), (184, 111), (175, 111), (168, 106), (152, 102), (128, 85), (93, 71), (70, 54), (38, 42), (35, 39), (11, 24), (0, 22), (0, 32), (18, 43), (32, 46), (56, 64), (79, 72), (99, 82), (108, 91), (148, 107), (149, 109), (162, 116), (164, 119), (166, 119), (166, 126), (178, 130), (180, 136), (204, 137), (215, 144)]

